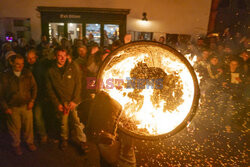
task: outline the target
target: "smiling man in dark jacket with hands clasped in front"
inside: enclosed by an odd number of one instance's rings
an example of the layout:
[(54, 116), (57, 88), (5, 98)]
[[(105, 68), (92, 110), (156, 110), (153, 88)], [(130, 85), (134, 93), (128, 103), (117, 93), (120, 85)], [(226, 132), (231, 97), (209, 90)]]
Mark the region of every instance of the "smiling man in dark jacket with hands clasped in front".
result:
[(81, 77), (78, 66), (67, 61), (67, 50), (58, 47), (55, 50), (56, 62), (48, 70), (47, 90), (50, 99), (57, 108), (61, 126), (60, 148), (65, 150), (69, 136), (68, 121), (72, 123), (72, 130), (76, 141), (81, 146), (82, 151), (87, 150), (86, 135), (83, 133), (83, 124), (80, 122), (76, 110), (81, 102)]

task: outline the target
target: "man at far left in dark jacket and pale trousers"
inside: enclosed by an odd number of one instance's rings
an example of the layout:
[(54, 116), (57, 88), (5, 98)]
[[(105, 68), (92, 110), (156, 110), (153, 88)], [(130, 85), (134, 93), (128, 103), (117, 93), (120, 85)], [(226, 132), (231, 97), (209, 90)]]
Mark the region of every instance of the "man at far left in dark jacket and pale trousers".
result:
[(7, 127), (12, 137), (12, 146), (17, 155), (22, 154), (20, 147), (21, 128), (30, 151), (35, 151), (33, 137), (32, 108), (37, 94), (37, 85), (32, 73), (23, 69), (24, 58), (13, 57), (12, 70), (4, 73), (0, 87), (0, 105), (7, 114)]

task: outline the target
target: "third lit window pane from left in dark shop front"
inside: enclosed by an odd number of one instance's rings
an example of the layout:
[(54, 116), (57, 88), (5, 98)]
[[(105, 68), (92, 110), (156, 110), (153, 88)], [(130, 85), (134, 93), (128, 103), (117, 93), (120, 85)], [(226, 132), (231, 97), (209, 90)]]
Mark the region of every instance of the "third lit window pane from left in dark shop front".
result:
[(86, 38), (89, 42), (97, 42), (100, 44), (101, 39), (101, 25), (100, 24), (86, 24)]

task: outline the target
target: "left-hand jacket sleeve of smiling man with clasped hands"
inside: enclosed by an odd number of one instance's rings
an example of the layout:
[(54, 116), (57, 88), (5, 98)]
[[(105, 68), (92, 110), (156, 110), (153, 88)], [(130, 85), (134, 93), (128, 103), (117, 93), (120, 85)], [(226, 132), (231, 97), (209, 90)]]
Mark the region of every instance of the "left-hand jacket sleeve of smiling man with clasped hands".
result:
[(46, 88), (47, 88), (48, 96), (49, 96), (50, 100), (52, 101), (52, 103), (55, 106), (58, 106), (61, 103), (60, 103), (59, 99), (57, 98), (55, 90), (53, 88), (52, 80), (51, 80), (51, 75), (50, 75), (50, 70), (48, 70), (48, 72), (47, 72), (47, 74), (45, 76), (45, 80), (46, 80), (45, 83), (46, 83)]

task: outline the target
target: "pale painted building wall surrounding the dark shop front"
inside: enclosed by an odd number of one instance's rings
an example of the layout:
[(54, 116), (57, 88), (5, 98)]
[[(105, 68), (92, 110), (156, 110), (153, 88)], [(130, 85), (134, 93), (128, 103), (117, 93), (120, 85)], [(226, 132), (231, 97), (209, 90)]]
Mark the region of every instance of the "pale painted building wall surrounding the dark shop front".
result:
[[(1, 17), (31, 19), (32, 37), (40, 39), (41, 21), (37, 6), (131, 9), (128, 31), (205, 34), (212, 0), (2, 0)], [(149, 22), (142, 25), (142, 13)]]

